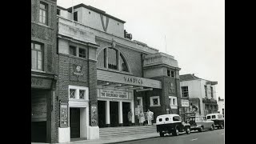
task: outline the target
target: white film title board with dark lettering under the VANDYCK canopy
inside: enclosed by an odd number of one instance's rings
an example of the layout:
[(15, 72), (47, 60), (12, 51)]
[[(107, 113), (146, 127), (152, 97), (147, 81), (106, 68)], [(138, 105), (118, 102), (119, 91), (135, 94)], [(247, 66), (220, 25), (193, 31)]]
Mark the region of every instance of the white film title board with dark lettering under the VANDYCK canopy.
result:
[(100, 90), (101, 98), (121, 98), (128, 99), (128, 92), (126, 91), (117, 91), (117, 90)]

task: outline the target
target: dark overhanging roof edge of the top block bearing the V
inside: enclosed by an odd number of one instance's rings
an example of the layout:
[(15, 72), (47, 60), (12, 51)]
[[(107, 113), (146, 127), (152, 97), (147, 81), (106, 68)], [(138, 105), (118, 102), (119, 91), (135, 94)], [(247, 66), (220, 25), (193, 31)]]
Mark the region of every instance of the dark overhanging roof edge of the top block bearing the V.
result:
[(86, 9), (93, 10), (94, 12), (97, 12), (99, 14), (103, 14), (105, 16), (113, 18), (114, 20), (117, 20), (118, 22), (126, 23), (125, 21), (123, 21), (123, 20), (121, 20), (119, 18), (115, 18), (114, 16), (112, 16), (110, 14), (106, 14), (106, 12), (103, 11), (103, 10), (99, 10), (99, 9), (93, 7), (93, 6), (87, 6), (87, 5), (83, 4), (83, 3), (80, 3), (80, 4), (76, 5), (76, 6), (71, 6), (70, 8), (67, 8), (66, 10), (72, 10), (72, 7), (74, 7), (74, 9), (79, 8), (79, 7), (84, 7)]

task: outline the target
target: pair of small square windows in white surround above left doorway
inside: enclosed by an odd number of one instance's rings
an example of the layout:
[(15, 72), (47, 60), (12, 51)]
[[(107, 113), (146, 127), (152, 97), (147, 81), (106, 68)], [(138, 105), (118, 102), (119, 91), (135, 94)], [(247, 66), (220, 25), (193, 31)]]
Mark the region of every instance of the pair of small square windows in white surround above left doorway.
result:
[(88, 87), (84, 86), (69, 86), (69, 95), (70, 99), (78, 100), (88, 100), (89, 99), (89, 91)]

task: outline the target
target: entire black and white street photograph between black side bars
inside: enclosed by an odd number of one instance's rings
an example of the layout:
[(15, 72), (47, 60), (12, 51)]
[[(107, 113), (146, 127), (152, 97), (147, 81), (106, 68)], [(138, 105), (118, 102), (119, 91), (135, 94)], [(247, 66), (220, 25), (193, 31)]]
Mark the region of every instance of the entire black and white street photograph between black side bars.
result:
[(32, 144), (224, 144), (225, 1), (31, 0), (30, 99)]

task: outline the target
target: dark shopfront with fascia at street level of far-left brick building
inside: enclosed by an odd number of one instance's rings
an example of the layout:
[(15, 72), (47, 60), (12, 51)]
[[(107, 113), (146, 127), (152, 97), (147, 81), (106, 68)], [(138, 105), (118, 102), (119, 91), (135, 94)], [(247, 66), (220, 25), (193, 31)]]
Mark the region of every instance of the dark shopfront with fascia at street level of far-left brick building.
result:
[(54, 77), (31, 76), (31, 142), (51, 142), (54, 130)]

